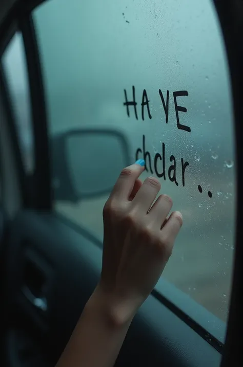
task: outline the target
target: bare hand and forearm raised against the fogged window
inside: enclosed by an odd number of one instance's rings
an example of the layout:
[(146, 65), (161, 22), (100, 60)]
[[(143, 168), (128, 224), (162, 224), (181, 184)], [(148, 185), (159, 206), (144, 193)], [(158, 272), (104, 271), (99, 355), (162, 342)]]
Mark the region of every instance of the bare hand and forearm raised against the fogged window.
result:
[(126, 167), (104, 206), (100, 280), (56, 367), (112, 367), (133, 317), (170, 258), (182, 216), (169, 215), (172, 199), (157, 197), (156, 178), (141, 183), (143, 171), (140, 164)]

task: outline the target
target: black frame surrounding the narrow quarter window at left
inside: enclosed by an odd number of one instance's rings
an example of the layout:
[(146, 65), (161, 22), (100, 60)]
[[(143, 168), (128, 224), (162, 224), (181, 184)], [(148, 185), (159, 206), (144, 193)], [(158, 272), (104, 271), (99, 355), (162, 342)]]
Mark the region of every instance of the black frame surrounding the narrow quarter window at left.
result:
[[(26, 68), (28, 71), (28, 84), (30, 91), (30, 107), (31, 107), (31, 127), (33, 131), (33, 148), (34, 148), (34, 173), (25, 178), (26, 186), (29, 193), (25, 195), (26, 207), (36, 208), (40, 210), (52, 209), (52, 188), (49, 163), (49, 142), (48, 142), (48, 125), (46, 114), (46, 103), (44, 89), (42, 84), (42, 73), (40, 71), (40, 63), (38, 56), (37, 42), (35, 31), (31, 18), (32, 10), (45, 0), (12, 0), (12, 3), (6, 6), (6, 16), (3, 15), (3, 22), (0, 26), (0, 58), (4, 53), (7, 45), (11, 41), (14, 33), (20, 31), (23, 36), (23, 44), (26, 56)], [(5, 79), (4, 70), (1, 68), (3, 80)], [(11, 114), (10, 119), (13, 123), (12, 136), (14, 145), (19, 151), (18, 139), (15, 141), (15, 121), (11, 111), (11, 103), (7, 83), (4, 81), (4, 94), (8, 98), (8, 113)], [(20, 151), (19, 151), (20, 152)], [(16, 154), (18, 167), (22, 167), (23, 162), (19, 159), (21, 155)], [(23, 173), (21, 173), (23, 177)], [(24, 174), (25, 176), (25, 174)], [(29, 194), (29, 195), (28, 195)], [(28, 196), (28, 197), (27, 197)], [(27, 203), (28, 202), (28, 203)]]

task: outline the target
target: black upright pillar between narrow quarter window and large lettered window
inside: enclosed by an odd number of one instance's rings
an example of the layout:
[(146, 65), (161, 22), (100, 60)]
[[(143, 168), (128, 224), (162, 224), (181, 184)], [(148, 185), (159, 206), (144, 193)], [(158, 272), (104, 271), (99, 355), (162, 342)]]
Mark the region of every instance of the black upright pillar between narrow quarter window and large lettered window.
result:
[(25, 14), (21, 17), (19, 29), (22, 31), (26, 53), (34, 137), (33, 206), (40, 210), (51, 210), (52, 187), (46, 102), (37, 40), (31, 14)]

